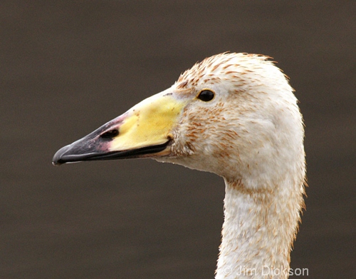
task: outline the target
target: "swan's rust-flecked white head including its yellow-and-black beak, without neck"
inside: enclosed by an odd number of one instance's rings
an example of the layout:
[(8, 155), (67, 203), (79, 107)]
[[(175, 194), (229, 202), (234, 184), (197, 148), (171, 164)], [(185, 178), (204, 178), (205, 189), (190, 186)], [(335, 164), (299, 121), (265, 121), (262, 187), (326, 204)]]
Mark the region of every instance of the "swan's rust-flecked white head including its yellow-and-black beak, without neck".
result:
[(266, 56), (218, 54), (61, 148), (53, 164), (155, 158), (263, 187), (303, 170), (303, 154), (303, 121), (286, 76)]

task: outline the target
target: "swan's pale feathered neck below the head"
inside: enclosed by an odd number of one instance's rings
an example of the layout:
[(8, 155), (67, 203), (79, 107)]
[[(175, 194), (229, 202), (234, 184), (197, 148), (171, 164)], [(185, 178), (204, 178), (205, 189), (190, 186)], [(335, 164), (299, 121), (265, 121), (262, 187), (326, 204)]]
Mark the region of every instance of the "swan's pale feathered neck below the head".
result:
[[(226, 179), (225, 184), (216, 279), (288, 278), (290, 250), (303, 206), (300, 187), (286, 181), (263, 189)], [(273, 275), (273, 268), (285, 272)]]

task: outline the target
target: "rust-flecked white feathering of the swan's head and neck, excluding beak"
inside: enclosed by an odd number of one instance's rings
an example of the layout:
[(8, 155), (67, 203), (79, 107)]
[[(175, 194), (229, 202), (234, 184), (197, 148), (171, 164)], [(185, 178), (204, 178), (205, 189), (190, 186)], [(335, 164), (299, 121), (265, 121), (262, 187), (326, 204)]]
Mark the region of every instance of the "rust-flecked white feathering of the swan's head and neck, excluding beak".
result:
[[(203, 89), (214, 99), (194, 98)], [(265, 56), (219, 54), (168, 91), (194, 101), (173, 132), (172, 156), (158, 160), (226, 183), (216, 278), (288, 278), (263, 270), (289, 268), (304, 204), (303, 119), (286, 76)]]

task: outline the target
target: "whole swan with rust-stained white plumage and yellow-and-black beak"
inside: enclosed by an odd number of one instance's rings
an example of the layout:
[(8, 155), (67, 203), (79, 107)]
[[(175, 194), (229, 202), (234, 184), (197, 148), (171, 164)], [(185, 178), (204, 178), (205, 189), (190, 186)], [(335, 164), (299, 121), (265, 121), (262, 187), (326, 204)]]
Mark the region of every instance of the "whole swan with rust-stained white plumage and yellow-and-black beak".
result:
[(303, 117), (267, 56), (224, 53), (61, 148), (53, 164), (154, 158), (224, 178), (216, 279), (288, 278), (304, 207)]

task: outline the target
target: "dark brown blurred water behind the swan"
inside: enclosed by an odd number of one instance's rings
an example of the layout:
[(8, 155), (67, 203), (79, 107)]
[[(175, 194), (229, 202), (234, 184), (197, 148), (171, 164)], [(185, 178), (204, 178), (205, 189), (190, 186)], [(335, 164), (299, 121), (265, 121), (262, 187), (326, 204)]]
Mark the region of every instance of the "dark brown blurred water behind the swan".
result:
[(214, 277), (221, 178), (51, 158), (224, 51), (272, 56), (300, 100), (309, 188), (291, 267), (355, 278), (355, 14), (355, 1), (2, 0), (0, 278)]

